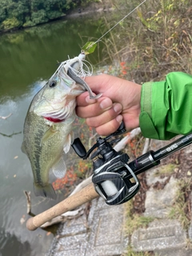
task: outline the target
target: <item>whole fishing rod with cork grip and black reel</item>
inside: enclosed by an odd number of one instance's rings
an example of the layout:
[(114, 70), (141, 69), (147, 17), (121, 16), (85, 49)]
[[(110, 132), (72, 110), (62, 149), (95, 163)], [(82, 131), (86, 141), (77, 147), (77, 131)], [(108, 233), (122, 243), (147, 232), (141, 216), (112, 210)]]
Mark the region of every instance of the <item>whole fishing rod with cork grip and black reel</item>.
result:
[(51, 219), (69, 210), (74, 210), (76, 207), (82, 206), (83, 203), (98, 198), (99, 195), (110, 206), (127, 202), (138, 193), (140, 188), (138, 174), (157, 166), (162, 158), (166, 158), (192, 143), (192, 134), (188, 134), (157, 151), (150, 150), (129, 163), (128, 154), (117, 152), (113, 148), (114, 143), (120, 140), (116, 137), (125, 132), (126, 129), (122, 123), (113, 134), (106, 138), (98, 138), (94, 146), (88, 151), (81, 140), (75, 138), (72, 144), (75, 153), (84, 160), (90, 157), (93, 161), (93, 183), (41, 214), (28, 219), (26, 222), (27, 229), (36, 230)]

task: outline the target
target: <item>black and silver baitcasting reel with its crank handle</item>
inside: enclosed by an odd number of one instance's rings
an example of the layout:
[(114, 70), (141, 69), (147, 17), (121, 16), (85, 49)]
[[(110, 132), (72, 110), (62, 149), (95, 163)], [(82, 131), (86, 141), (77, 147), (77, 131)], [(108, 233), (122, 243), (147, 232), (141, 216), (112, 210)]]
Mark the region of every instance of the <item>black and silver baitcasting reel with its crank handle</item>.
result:
[(137, 176), (127, 164), (130, 159), (128, 154), (117, 152), (112, 147), (120, 139), (111, 138), (124, 132), (126, 130), (122, 123), (113, 134), (106, 138), (98, 138), (88, 152), (86, 152), (79, 138), (75, 138), (72, 144), (75, 153), (80, 158), (86, 159), (90, 156), (93, 160), (94, 175), (92, 182), (95, 190), (105, 199), (108, 205), (118, 205), (130, 200), (138, 193), (140, 186)]

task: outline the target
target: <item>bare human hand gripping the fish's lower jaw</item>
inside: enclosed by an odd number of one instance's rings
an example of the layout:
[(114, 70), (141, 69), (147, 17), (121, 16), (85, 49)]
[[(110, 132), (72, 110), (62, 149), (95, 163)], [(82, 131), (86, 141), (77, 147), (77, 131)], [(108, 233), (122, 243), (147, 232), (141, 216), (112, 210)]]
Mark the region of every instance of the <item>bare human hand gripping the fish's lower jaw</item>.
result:
[(86, 83), (102, 97), (90, 99), (88, 92), (77, 97), (76, 113), (98, 134), (109, 135), (124, 122), (126, 130), (139, 126), (141, 86), (108, 74), (86, 77)]

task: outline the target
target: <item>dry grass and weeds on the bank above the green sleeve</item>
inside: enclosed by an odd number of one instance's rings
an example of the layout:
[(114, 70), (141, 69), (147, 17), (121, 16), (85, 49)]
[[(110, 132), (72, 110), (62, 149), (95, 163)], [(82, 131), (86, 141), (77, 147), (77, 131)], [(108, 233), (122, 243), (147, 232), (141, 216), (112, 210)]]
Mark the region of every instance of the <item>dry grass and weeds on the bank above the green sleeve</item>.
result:
[[(138, 1), (131, 2), (133, 6), (124, 2), (122, 10), (118, 0), (113, 2), (122, 17), (138, 5)], [(147, 0), (102, 38), (105, 64), (106, 60), (113, 66), (125, 62), (124, 66), (118, 65), (122, 78), (138, 83), (159, 81), (175, 70), (192, 73), (191, 15), (189, 0)], [(114, 26), (106, 20), (104, 24), (102, 34)]]

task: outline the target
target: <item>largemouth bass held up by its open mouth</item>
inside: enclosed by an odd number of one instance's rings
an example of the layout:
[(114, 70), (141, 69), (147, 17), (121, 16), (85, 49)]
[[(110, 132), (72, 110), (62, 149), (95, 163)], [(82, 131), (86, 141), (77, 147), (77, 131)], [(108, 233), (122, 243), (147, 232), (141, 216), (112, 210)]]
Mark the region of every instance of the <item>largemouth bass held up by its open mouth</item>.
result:
[(64, 152), (74, 140), (72, 126), (75, 118), (76, 97), (85, 90), (94, 96), (90, 87), (79, 77), (85, 54), (62, 62), (42, 90), (30, 103), (24, 124), (22, 152), (30, 159), (34, 174), (34, 194), (56, 199), (49, 182), (50, 171), (57, 178), (66, 174)]

